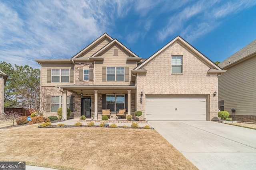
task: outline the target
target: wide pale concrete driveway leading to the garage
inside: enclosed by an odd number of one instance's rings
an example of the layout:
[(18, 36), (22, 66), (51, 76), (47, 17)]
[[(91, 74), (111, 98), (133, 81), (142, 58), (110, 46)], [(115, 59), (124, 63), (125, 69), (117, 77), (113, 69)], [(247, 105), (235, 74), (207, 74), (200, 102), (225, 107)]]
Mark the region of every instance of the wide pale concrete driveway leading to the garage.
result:
[(148, 121), (200, 170), (255, 170), (256, 130), (211, 121)]

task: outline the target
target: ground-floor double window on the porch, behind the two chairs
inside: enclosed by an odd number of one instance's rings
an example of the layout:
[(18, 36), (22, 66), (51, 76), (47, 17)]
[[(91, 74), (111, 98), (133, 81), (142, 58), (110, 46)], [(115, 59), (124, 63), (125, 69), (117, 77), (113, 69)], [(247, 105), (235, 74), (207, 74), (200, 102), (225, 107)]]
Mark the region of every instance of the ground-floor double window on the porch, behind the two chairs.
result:
[(110, 111), (118, 111), (119, 109), (124, 109), (124, 95), (107, 95), (106, 108), (110, 109)]

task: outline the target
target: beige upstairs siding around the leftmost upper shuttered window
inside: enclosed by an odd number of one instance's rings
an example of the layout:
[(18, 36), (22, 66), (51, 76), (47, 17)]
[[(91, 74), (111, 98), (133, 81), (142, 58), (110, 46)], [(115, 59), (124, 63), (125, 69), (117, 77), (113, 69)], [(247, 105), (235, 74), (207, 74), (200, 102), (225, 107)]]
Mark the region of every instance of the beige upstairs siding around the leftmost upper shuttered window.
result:
[(47, 83), (47, 69), (74, 69), (72, 63), (42, 63), (42, 86), (72, 85), (74, 83)]

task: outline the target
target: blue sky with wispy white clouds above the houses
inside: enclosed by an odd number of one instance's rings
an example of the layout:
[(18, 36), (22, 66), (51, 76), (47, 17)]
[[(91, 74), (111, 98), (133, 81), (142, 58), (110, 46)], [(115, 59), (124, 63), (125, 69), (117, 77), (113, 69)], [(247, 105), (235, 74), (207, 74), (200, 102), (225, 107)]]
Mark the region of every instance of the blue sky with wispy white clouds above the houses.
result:
[(256, 39), (256, 0), (0, 0), (0, 61), (39, 68), (105, 32), (142, 58), (180, 35), (223, 61)]

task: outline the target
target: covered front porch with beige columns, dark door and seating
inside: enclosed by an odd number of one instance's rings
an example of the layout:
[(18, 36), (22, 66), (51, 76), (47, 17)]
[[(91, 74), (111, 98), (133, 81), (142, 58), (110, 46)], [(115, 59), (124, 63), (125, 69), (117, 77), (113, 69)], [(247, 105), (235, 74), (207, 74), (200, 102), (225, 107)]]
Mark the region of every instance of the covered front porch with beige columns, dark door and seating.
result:
[(102, 109), (110, 109), (109, 120), (116, 119), (119, 109), (126, 109), (126, 115), (136, 111), (136, 86), (104, 86), (104, 85), (72, 85), (57, 86), (62, 92), (62, 115), (67, 120), (67, 92), (73, 96), (74, 119), (81, 115), (87, 119), (98, 120), (102, 117)]

